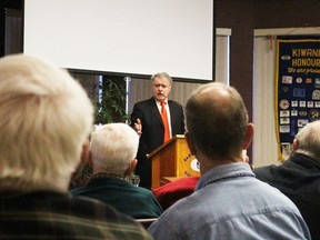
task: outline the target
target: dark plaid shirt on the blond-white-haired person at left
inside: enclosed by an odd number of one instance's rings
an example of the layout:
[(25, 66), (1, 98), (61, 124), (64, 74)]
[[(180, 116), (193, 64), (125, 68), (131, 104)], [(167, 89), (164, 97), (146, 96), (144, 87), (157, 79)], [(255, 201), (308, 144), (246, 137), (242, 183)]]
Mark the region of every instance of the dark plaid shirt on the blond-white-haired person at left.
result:
[(152, 239), (133, 219), (88, 198), (0, 193), (0, 239)]

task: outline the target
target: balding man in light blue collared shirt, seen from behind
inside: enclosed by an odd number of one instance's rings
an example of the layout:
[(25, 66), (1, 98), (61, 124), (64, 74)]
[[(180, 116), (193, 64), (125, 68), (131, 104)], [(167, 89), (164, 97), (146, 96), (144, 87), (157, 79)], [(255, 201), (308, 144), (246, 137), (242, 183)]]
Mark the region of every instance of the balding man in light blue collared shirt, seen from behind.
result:
[(243, 162), (253, 124), (234, 88), (199, 87), (188, 99), (186, 119), (201, 177), (191, 196), (149, 227), (154, 239), (310, 239), (297, 207)]

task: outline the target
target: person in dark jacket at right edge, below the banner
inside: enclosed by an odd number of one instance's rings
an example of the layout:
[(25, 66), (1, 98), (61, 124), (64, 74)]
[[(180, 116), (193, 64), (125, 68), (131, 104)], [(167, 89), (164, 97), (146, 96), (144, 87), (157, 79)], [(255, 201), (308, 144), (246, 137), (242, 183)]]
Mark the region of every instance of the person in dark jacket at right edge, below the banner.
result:
[(320, 240), (320, 120), (293, 140), (293, 152), (280, 166), (256, 168), (258, 179), (278, 188), (300, 210), (313, 240)]

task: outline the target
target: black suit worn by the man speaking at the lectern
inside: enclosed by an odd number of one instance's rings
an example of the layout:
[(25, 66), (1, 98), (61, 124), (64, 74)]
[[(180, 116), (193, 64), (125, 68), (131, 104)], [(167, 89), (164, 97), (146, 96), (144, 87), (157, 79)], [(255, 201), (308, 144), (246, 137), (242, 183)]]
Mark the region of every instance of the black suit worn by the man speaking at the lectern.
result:
[[(176, 101), (168, 101), (171, 117), (172, 136), (184, 133), (183, 108)], [(151, 161), (147, 154), (163, 144), (164, 127), (158, 110), (156, 100), (151, 99), (138, 102), (133, 106), (131, 113), (131, 127), (140, 119), (142, 134), (140, 137), (139, 150), (137, 154), (138, 163), (136, 174), (140, 176), (140, 186), (151, 188)]]

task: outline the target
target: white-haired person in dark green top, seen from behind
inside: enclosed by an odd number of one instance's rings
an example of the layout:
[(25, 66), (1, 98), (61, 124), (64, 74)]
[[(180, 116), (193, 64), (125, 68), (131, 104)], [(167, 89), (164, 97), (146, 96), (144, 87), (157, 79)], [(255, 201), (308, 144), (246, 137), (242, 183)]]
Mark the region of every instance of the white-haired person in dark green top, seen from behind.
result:
[(132, 218), (158, 218), (162, 208), (153, 193), (126, 180), (136, 167), (139, 136), (124, 123), (104, 124), (91, 134), (90, 158), (93, 174), (74, 196), (102, 200)]

